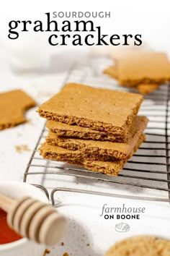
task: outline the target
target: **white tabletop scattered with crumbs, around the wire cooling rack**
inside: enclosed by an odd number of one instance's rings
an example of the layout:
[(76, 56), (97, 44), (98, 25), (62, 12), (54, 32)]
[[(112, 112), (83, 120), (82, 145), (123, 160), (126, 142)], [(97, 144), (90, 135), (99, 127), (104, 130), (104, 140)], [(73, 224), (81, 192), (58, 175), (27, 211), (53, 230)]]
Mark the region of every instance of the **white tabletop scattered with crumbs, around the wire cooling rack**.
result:
[[(63, 64), (60, 59), (59, 63), (56, 62), (55, 65), (53, 64), (54, 66), (51, 72), (16, 74), (12, 72), (5, 54), (1, 53), (0, 56), (1, 92), (22, 88), (37, 100), (37, 104), (42, 103), (47, 98), (50, 98), (51, 95), (58, 92), (66, 78), (69, 65), (76, 58), (75, 56), (70, 59), (63, 58)], [(38, 116), (35, 110), (36, 108), (27, 111), (27, 119), (31, 120), (29, 123), (0, 132), (1, 181), (16, 180), (22, 182), (24, 170), (44, 124), (44, 120)], [(29, 151), (18, 153), (16, 150), (17, 145), (27, 145)], [(33, 177), (32, 179), (34, 182), (35, 178)], [(63, 186), (70, 186), (70, 181), (66, 180), (62, 182), (61, 184)], [(91, 185), (88, 182), (78, 181), (78, 184), (76, 184), (74, 181), (71, 184), (74, 188), (91, 189)], [(58, 181), (55, 178), (47, 178), (43, 185), (48, 188), (54, 188), (58, 186)], [(106, 185), (100, 184), (99, 187), (107, 192), (117, 192), (112, 186), (106, 187)], [(125, 193), (125, 191), (123, 192)], [(56, 247), (50, 248), (51, 256), (62, 256), (64, 252), (68, 252), (68, 255), (72, 256), (102, 256), (115, 241), (123, 239), (126, 236), (133, 236), (135, 234), (170, 236), (169, 203), (144, 202), (140, 200), (120, 199), (119, 197), (80, 195), (66, 192), (58, 193), (58, 200), (61, 201), (61, 206), (58, 210), (68, 216), (68, 231), (63, 238), (63, 246), (58, 244)], [(130, 221), (105, 220), (100, 216), (104, 204), (107, 204), (109, 207), (119, 207), (123, 203), (127, 207), (145, 207), (146, 213), (141, 214), (140, 220)], [(120, 222), (126, 222), (130, 225), (130, 231), (128, 233), (118, 233), (115, 231), (115, 224)]]

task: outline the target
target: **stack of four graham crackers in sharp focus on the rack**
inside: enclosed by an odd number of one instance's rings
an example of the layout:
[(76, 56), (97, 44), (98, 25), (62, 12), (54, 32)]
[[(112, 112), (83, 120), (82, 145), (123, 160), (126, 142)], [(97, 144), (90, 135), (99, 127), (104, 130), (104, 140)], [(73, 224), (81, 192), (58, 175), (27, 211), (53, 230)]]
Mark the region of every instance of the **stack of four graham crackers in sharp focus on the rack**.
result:
[(145, 140), (143, 96), (68, 83), (38, 108), (48, 121), (43, 158), (117, 176)]

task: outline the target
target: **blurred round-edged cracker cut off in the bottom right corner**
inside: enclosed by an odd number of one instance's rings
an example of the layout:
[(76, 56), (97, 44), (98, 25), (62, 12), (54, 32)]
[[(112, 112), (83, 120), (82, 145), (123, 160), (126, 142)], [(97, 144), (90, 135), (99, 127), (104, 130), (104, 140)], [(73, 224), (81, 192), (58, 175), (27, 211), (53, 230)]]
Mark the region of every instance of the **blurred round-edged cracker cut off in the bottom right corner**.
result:
[(170, 256), (170, 242), (154, 236), (133, 236), (111, 247), (105, 256)]

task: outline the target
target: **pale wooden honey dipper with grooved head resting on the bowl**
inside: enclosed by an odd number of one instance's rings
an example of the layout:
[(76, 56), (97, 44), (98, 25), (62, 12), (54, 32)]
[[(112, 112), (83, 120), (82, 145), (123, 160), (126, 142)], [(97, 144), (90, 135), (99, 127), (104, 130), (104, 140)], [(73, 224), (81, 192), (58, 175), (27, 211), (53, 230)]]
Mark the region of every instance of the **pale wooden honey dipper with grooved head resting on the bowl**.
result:
[(0, 194), (0, 207), (6, 211), (7, 222), (14, 231), (40, 244), (56, 244), (66, 227), (63, 215), (32, 197), (13, 200)]

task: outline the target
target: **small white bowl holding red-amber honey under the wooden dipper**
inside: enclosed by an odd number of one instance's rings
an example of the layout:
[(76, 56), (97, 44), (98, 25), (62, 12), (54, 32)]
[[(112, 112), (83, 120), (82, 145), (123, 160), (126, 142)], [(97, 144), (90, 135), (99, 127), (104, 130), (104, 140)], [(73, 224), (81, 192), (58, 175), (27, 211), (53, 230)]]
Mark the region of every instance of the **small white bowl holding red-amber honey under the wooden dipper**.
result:
[[(48, 198), (41, 189), (22, 182), (0, 182), (0, 193), (16, 199), (31, 196), (48, 203)], [(37, 244), (26, 238), (9, 244), (0, 244), (1, 256), (42, 256), (44, 251), (44, 244)]]

